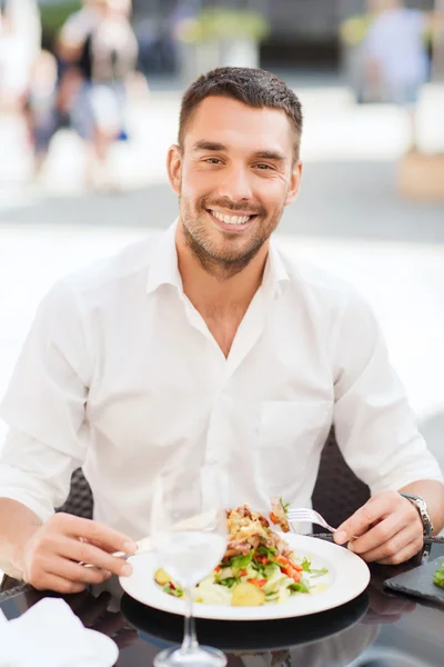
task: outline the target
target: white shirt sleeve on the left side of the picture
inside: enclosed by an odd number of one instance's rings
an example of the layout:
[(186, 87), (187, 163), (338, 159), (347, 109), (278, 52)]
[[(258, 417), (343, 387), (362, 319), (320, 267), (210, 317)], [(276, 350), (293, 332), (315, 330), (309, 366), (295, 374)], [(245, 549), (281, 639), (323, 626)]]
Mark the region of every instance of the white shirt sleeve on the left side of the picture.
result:
[(40, 305), (0, 406), (0, 497), (44, 521), (65, 500), (87, 457), (92, 351), (73, 290), (58, 282)]

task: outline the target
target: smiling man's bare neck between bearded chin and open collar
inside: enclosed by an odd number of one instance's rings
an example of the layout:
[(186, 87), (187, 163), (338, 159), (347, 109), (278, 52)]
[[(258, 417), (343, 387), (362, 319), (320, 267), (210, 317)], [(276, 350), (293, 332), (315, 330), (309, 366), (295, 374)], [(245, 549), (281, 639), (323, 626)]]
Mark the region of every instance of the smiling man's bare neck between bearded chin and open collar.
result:
[(223, 275), (223, 267), (220, 272), (210, 272), (204, 268), (186, 242), (181, 223), (178, 226), (175, 245), (183, 291), (199, 311), (211, 308), (222, 315), (231, 310), (233, 306), (246, 311), (262, 282), (269, 253), (268, 242), (248, 266), (238, 273), (230, 275), (228, 272), (226, 277)]

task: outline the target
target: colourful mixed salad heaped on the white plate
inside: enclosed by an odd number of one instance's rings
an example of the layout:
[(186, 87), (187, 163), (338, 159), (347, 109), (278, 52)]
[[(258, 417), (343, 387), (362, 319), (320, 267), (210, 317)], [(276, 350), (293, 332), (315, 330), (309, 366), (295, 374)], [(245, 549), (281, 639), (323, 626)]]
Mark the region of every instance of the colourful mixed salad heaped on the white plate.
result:
[[(278, 507), (278, 505), (280, 507)], [(283, 502), (272, 501), (271, 520), (287, 527)], [(329, 570), (313, 568), (306, 556), (297, 557), (261, 514), (242, 505), (226, 511), (228, 545), (214, 570), (193, 589), (195, 603), (234, 607), (283, 604), (294, 595), (321, 593), (329, 585)], [(155, 583), (168, 595), (183, 591), (164, 569), (158, 569)]]

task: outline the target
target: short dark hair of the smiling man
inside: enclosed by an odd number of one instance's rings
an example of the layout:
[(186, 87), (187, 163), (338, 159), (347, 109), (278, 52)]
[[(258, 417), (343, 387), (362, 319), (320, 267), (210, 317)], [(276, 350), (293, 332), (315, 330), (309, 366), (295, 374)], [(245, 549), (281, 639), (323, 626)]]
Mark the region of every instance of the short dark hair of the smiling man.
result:
[(294, 158), (299, 159), (302, 135), (302, 106), (297, 96), (275, 74), (248, 67), (221, 67), (196, 79), (182, 98), (179, 146), (199, 104), (210, 96), (228, 97), (248, 107), (282, 109), (294, 130)]

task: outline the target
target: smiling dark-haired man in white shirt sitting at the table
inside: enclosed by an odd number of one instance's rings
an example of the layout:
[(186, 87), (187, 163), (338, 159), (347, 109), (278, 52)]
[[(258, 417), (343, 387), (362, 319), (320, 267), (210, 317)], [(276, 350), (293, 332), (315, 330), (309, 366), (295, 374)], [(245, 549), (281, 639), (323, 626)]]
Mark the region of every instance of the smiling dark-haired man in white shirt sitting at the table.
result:
[[(351, 548), (367, 561), (417, 552), (423, 521), (398, 490), (443, 527), (440, 468), (369, 308), (270, 242), (300, 187), (301, 132), (300, 101), (273, 74), (201, 77), (168, 155), (176, 223), (43, 300), (1, 410), (8, 573), (67, 593), (131, 571), (109, 551), (149, 532), (171, 460), (216, 468), (232, 506), (266, 510), (278, 490), (306, 506), (332, 421), (373, 494), (337, 542), (359, 536)], [(79, 466), (93, 521), (53, 516)]]

